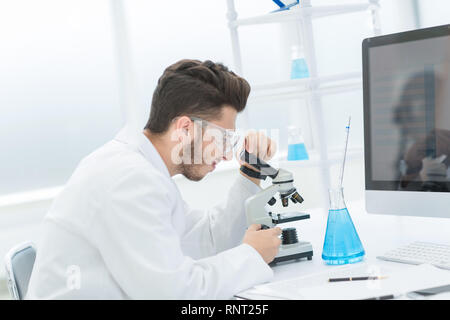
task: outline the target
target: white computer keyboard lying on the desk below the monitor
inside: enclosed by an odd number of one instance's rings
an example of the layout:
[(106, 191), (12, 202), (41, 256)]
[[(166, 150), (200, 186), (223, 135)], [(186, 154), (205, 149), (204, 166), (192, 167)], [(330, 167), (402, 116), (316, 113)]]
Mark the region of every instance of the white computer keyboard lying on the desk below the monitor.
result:
[(408, 264), (427, 263), (450, 270), (450, 245), (417, 241), (388, 251), (377, 258)]

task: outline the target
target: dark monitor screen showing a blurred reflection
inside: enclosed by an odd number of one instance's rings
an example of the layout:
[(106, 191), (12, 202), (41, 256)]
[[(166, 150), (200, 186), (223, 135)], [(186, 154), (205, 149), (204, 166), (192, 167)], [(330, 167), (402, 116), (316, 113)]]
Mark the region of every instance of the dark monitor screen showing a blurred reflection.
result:
[(371, 187), (449, 192), (450, 36), (371, 47), (367, 67)]

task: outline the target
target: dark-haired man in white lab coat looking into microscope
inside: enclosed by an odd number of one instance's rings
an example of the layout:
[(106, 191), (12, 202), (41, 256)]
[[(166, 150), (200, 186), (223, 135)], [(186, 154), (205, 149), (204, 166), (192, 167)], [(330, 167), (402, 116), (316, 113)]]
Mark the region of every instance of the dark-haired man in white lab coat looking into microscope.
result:
[[(227, 299), (270, 280), (281, 230), (245, 222), (258, 182), (239, 172), (225, 202), (201, 211), (171, 179), (198, 181), (231, 158), (249, 92), (221, 64), (169, 66), (137, 142), (122, 130), (81, 161), (55, 199), (27, 298)], [(247, 136), (244, 147), (265, 159), (275, 152), (264, 135)]]

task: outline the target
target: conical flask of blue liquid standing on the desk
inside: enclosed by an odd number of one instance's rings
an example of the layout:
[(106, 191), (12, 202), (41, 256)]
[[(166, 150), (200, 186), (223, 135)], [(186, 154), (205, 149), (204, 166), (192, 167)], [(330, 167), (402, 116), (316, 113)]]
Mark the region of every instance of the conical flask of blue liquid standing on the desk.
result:
[(326, 264), (361, 261), (364, 248), (344, 202), (342, 188), (330, 189), (330, 210), (323, 243), (322, 259)]

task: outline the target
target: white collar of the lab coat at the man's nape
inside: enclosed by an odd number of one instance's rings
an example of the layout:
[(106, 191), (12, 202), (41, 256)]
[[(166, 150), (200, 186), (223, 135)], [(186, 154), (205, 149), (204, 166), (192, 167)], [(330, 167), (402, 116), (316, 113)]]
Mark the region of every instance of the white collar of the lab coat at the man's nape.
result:
[(121, 129), (114, 140), (126, 143), (137, 148), (142, 155), (155, 166), (158, 171), (164, 173), (170, 178), (169, 169), (167, 169), (161, 155), (156, 150), (153, 143), (144, 135), (143, 132), (128, 130), (126, 127)]

